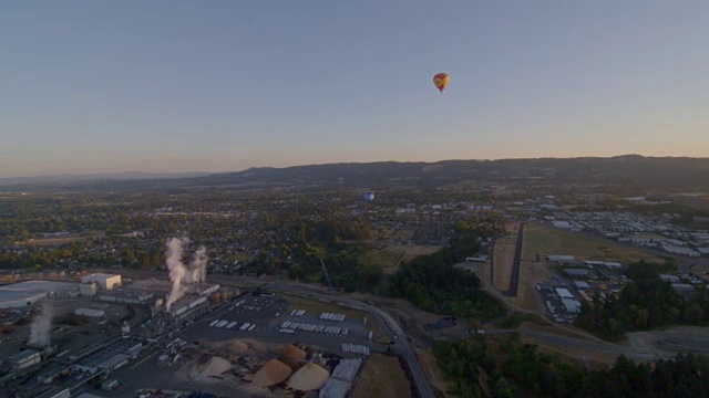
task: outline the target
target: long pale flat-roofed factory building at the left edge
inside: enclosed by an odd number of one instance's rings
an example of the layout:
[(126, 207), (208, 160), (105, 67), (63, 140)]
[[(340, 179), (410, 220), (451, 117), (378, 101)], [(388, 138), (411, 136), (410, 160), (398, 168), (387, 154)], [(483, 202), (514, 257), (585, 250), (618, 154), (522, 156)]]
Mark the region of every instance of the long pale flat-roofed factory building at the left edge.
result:
[(75, 283), (24, 281), (0, 286), (0, 308), (20, 308), (47, 297), (63, 297), (79, 294)]

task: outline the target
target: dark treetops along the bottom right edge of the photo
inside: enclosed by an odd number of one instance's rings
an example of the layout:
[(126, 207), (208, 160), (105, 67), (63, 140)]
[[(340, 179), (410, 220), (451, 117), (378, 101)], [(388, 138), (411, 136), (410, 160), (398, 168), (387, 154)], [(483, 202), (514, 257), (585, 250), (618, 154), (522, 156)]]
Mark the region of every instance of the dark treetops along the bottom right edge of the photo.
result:
[[(680, 354), (670, 360), (636, 364), (619, 356), (609, 370), (586, 373), (558, 356), (538, 353), (535, 345), (512, 336), (493, 357), (475, 336), (438, 343), (434, 354), (459, 397), (707, 397), (709, 359)], [(486, 377), (483, 377), (485, 375)]]

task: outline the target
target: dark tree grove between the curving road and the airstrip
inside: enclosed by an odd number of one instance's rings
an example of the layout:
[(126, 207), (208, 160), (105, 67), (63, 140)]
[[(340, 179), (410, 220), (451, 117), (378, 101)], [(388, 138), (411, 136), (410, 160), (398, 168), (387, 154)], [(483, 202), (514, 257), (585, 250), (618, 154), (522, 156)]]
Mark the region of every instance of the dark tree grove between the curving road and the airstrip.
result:
[(458, 226), (458, 237), (449, 247), (402, 265), (390, 281), (389, 294), (439, 314), (480, 318), (502, 315), (503, 305), (480, 287), (477, 276), (453, 266), (477, 252), (482, 239), (500, 232), (490, 221)]

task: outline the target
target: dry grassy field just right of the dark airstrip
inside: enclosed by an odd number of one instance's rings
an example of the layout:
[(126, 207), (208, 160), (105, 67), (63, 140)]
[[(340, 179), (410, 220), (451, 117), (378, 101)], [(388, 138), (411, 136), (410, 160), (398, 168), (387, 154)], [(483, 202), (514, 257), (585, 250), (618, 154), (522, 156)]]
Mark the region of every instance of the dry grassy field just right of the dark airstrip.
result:
[(645, 260), (664, 263), (665, 260), (649, 252), (629, 248), (603, 238), (563, 231), (538, 223), (525, 229), (523, 260), (535, 260), (536, 254), (573, 255), (580, 260), (618, 261), (621, 263)]

